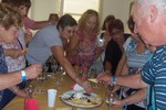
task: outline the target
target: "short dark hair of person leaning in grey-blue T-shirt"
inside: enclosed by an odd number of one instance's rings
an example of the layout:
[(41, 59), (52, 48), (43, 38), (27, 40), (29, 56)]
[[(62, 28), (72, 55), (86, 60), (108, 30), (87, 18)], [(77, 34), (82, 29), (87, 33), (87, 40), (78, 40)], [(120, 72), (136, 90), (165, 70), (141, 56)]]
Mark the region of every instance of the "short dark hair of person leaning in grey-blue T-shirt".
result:
[(59, 23), (58, 23), (58, 29), (61, 26), (64, 29), (65, 26), (74, 26), (77, 25), (75, 19), (73, 19), (70, 14), (64, 14), (61, 16)]

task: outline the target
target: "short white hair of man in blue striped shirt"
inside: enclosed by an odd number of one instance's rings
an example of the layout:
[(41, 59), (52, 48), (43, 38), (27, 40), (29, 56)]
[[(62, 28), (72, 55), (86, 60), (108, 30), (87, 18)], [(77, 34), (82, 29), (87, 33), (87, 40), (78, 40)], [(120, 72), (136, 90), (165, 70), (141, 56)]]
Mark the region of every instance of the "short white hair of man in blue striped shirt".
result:
[(166, 13), (166, 0), (134, 0), (134, 3), (138, 4), (142, 14), (145, 15), (151, 6), (155, 6), (159, 14)]

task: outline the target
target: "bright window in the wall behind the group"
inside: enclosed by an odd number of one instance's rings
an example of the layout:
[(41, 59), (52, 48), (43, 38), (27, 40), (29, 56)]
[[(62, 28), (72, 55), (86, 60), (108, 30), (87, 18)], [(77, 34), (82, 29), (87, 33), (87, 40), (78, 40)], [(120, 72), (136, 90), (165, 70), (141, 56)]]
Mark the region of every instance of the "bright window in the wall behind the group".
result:
[(69, 13), (79, 20), (83, 12), (93, 9), (100, 13), (101, 0), (62, 0), (60, 14)]

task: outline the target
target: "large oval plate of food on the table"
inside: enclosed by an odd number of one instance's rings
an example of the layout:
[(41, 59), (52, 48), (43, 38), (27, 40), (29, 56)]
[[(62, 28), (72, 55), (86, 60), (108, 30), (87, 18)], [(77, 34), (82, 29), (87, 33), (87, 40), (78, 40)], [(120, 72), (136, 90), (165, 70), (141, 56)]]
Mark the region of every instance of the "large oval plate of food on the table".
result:
[(86, 94), (84, 90), (66, 91), (61, 97), (62, 101), (76, 108), (95, 108), (103, 103), (103, 100), (96, 94)]

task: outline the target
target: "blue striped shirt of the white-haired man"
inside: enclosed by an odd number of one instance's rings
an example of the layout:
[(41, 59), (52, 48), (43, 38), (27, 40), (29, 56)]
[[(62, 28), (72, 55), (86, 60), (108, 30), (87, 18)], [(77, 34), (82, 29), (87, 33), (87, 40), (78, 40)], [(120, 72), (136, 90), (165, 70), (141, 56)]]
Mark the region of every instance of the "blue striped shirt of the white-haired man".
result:
[(158, 46), (152, 61), (142, 70), (142, 79), (155, 88), (156, 108), (165, 110), (166, 107), (166, 45)]

